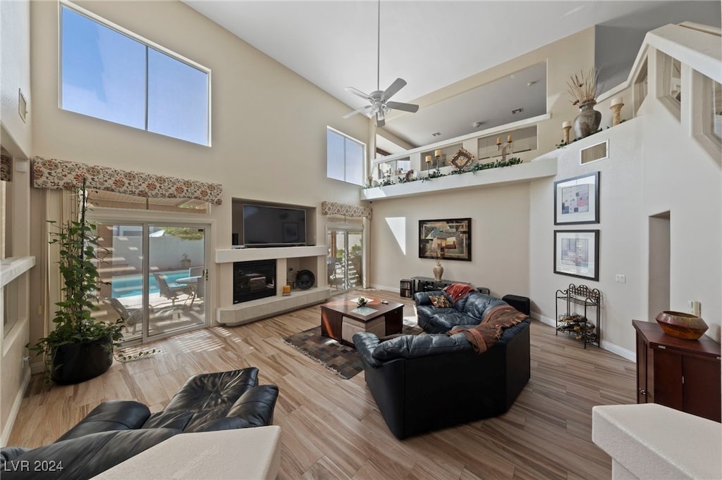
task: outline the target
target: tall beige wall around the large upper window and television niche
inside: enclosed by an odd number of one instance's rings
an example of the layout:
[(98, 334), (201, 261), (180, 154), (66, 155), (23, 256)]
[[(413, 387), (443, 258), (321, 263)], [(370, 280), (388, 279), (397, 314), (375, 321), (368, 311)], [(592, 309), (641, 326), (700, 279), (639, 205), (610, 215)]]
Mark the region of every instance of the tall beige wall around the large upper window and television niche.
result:
[[(326, 178), (326, 126), (365, 141), (365, 117), (342, 119), (346, 105), (179, 1), (79, 6), (212, 70), (212, 147), (59, 109), (58, 7), (37, 1), (34, 155), (222, 183), (224, 203), (205, 219), (214, 221), (214, 249), (230, 247), (232, 197), (312, 207), (359, 203), (357, 187)], [(319, 218), (317, 238), (324, 232)], [(232, 303), (230, 265), (217, 266), (214, 278), (212, 308)]]

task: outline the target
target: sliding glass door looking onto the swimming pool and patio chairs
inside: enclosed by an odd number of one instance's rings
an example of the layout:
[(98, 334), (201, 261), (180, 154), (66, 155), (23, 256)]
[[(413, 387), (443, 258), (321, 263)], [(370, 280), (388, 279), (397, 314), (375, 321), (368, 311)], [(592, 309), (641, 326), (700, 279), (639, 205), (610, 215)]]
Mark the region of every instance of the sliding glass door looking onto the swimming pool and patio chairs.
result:
[[(97, 222), (105, 315), (124, 321), (123, 341), (206, 325), (206, 228)], [(103, 314), (101, 309), (100, 314)]]

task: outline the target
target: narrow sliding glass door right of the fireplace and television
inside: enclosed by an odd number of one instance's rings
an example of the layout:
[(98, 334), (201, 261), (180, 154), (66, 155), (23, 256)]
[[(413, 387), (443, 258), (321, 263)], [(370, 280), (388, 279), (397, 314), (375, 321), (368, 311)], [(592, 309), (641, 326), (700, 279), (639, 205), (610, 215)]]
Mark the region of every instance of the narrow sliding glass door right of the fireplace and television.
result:
[(329, 228), (328, 283), (333, 290), (349, 290), (363, 283), (363, 231), (359, 228)]

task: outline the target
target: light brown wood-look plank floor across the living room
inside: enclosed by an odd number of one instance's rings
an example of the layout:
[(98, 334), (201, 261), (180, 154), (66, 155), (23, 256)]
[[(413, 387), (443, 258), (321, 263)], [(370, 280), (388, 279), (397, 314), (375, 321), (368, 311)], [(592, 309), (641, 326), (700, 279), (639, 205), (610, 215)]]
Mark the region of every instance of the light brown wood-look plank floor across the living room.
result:
[[(392, 292), (370, 297), (405, 303)], [(56, 440), (101, 401), (135, 399), (162, 409), (188, 376), (256, 366), (260, 383), (280, 388), (279, 479), (609, 479), (611, 459), (591, 442), (591, 408), (635, 402), (635, 364), (532, 321), (531, 380), (504, 415), (396, 440), (367, 390), (364, 374), (344, 380), (285, 344), (317, 326), (313, 306), (236, 327), (217, 326), (160, 340), (154, 357), (116, 362), (73, 386), (32, 378), (8, 445)], [(418, 401), (424, 401), (419, 398)], [(451, 402), (453, 404), (453, 401)]]

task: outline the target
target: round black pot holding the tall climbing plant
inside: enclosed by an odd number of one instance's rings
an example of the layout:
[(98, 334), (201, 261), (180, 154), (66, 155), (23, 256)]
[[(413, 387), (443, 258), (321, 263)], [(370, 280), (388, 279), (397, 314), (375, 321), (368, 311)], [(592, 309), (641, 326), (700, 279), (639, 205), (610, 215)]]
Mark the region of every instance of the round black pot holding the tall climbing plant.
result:
[(56, 347), (51, 378), (59, 385), (70, 385), (95, 378), (113, 365), (113, 340), (102, 337), (90, 342)]

